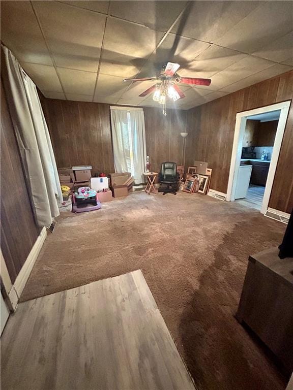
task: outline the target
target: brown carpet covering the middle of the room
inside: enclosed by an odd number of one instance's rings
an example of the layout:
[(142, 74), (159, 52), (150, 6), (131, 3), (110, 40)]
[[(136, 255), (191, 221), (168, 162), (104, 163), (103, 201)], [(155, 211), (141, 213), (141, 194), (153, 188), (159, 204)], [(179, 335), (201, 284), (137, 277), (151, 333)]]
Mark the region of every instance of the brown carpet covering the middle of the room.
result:
[(199, 390), (281, 390), (285, 380), (237, 322), (248, 255), (285, 226), (200, 194), (132, 193), (102, 210), (64, 213), (21, 300), (141, 269)]

